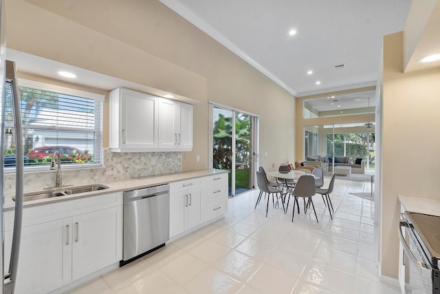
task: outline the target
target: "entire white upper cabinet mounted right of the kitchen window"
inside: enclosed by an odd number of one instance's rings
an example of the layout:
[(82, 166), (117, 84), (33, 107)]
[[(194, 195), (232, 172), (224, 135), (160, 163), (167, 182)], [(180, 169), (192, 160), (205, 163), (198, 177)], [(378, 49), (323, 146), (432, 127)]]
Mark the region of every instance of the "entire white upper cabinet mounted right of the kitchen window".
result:
[(110, 92), (111, 151), (190, 151), (192, 105), (118, 88)]

